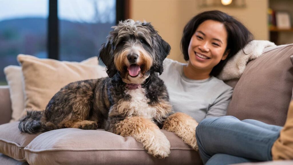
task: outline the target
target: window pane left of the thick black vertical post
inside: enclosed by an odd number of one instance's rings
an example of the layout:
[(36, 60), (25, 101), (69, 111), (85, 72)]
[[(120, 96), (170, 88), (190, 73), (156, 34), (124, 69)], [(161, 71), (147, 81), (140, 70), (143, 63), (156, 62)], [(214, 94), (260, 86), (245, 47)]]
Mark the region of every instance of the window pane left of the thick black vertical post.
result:
[(0, 1), (0, 85), (20, 53), (47, 58), (48, 0)]

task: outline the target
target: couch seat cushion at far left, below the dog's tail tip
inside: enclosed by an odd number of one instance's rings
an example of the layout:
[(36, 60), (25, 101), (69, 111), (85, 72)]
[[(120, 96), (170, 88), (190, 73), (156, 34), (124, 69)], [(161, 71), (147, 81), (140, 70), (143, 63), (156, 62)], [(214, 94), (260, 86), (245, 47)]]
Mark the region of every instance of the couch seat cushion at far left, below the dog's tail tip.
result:
[(21, 133), (18, 129), (19, 122), (0, 125), (0, 153), (18, 161), (25, 161), (24, 147), (26, 147), (39, 134)]

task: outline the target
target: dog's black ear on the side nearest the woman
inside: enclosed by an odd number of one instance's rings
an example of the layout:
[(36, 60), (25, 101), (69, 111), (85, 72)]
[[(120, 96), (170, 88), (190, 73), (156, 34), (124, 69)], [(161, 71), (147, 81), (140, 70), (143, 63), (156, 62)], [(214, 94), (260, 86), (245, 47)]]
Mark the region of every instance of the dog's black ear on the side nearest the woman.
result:
[(154, 71), (158, 72), (160, 75), (163, 73), (163, 61), (170, 54), (171, 46), (163, 40), (159, 34), (156, 36), (156, 48), (155, 48), (155, 56), (156, 62), (154, 64)]

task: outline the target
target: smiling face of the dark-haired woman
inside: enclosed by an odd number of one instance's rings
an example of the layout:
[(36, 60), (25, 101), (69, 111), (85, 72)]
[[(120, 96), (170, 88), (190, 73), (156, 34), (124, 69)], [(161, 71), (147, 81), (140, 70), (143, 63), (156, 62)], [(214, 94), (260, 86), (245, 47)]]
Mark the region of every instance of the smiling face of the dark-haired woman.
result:
[(227, 31), (225, 26), (213, 20), (201, 23), (188, 46), (188, 63), (192, 67), (211, 72), (221, 60), (227, 58)]

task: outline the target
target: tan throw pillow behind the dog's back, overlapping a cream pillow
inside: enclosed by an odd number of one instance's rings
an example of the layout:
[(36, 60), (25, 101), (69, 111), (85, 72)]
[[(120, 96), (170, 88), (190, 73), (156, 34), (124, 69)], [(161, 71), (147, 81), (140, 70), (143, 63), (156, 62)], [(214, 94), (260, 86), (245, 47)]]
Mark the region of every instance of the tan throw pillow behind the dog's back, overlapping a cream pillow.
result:
[[(68, 83), (108, 76), (97, 57), (81, 63), (40, 59), (30, 55), (18, 55), (25, 83), (25, 108), (44, 110), (50, 99)], [(94, 65), (93, 65), (93, 59)], [(23, 115), (26, 110), (23, 111)]]

